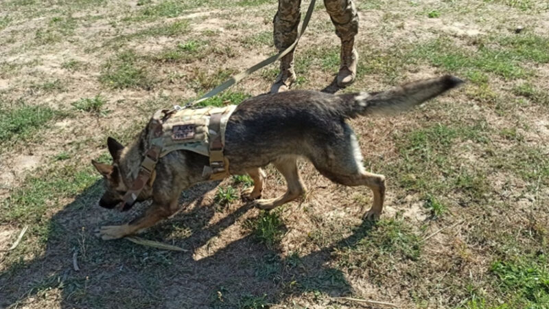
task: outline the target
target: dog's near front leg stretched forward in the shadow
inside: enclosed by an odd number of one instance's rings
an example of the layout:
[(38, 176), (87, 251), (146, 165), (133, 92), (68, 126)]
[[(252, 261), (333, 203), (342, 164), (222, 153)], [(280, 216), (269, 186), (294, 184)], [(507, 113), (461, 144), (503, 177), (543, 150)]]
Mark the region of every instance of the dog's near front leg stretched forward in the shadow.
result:
[(175, 198), (174, 201), (170, 203), (159, 203), (155, 201), (145, 211), (144, 214), (142, 214), (138, 218), (135, 218), (130, 223), (127, 223), (125, 225), (104, 226), (101, 227), (99, 231), (97, 231), (97, 234), (103, 240), (112, 240), (138, 233), (143, 229), (152, 227), (156, 224), (156, 222), (172, 216), (172, 214), (174, 214), (178, 209), (177, 205), (177, 198)]

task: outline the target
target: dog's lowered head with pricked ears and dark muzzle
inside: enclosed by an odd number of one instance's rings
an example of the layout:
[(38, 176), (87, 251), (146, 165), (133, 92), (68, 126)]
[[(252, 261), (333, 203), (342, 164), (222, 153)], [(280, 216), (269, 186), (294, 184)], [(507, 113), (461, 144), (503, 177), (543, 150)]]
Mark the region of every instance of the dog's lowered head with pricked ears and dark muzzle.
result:
[[(99, 163), (95, 160), (92, 160), (91, 163), (95, 166), (97, 172), (103, 175), (105, 183), (105, 193), (101, 197), (99, 205), (104, 208), (113, 209), (122, 203), (124, 194), (128, 192), (135, 178), (135, 176), (132, 177), (131, 170), (139, 169), (141, 161), (135, 160), (135, 162), (130, 162), (132, 160), (127, 158), (128, 155), (124, 151), (124, 146), (112, 137), (108, 137), (107, 146), (110, 156), (113, 157), (113, 164)], [(131, 166), (132, 163), (136, 165), (133, 168)], [(151, 180), (154, 179), (154, 177), (151, 178)], [(141, 194), (139, 194), (137, 201), (145, 201), (150, 196), (152, 196), (152, 183), (147, 183)], [(132, 205), (128, 206), (131, 207)], [(124, 210), (130, 209), (130, 207)]]

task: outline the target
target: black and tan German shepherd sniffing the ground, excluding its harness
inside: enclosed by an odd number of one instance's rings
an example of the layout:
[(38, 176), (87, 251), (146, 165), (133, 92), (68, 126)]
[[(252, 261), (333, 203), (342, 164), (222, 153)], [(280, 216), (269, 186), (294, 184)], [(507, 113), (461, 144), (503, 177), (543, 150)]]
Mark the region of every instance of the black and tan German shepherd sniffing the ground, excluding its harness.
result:
[[(405, 111), (462, 82), (454, 76), (443, 76), (377, 93), (288, 91), (250, 98), (237, 106), (226, 126), (224, 155), (230, 163), (229, 172), (250, 175), (254, 186), (242, 192), (243, 197), (261, 209), (273, 209), (305, 192), (297, 168), (297, 159), (304, 157), (331, 181), (369, 187), (373, 206), (364, 219), (375, 220), (383, 209), (385, 177), (364, 170), (358, 141), (347, 119)], [(145, 126), (137, 141), (128, 147), (109, 137), (112, 165), (92, 161), (105, 180), (106, 192), (100, 206), (114, 208), (121, 203), (151, 146), (149, 130)], [(265, 177), (261, 168), (269, 163), (284, 176), (288, 190), (278, 198), (258, 199)], [(195, 152), (177, 150), (165, 155), (137, 199), (152, 198), (152, 205), (128, 224), (101, 227), (97, 235), (104, 240), (122, 238), (168, 218), (178, 210), (183, 190), (208, 181), (202, 176), (205, 165), (209, 165), (208, 157)]]

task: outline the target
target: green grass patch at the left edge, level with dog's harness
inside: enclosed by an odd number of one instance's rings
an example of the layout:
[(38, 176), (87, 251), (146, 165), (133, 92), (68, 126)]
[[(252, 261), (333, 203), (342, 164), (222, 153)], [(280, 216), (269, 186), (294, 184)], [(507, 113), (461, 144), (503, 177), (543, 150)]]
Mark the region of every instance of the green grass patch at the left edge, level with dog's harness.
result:
[(47, 106), (22, 106), (13, 110), (0, 108), (0, 141), (25, 139), (58, 115)]

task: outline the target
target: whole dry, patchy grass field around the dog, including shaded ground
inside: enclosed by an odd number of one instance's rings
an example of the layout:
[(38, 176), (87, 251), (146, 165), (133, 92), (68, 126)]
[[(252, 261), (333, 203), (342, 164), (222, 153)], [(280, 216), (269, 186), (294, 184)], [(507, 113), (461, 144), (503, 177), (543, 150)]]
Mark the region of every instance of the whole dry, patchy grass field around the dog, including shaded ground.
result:
[[(156, 109), (274, 54), (276, 1), (230, 2), (1, 1), (0, 308), (549, 308), (547, 0), (356, 1), (358, 80), (341, 93), (467, 80), (406, 115), (352, 121), (366, 168), (387, 177), (375, 224), (360, 219), (369, 189), (302, 162), (307, 194), (269, 213), (240, 201), (245, 176), (184, 192), (142, 237), (186, 252), (96, 238), (146, 207), (97, 206), (90, 161), (109, 160), (106, 137), (128, 143)], [(296, 89), (338, 70), (317, 6)], [(209, 104), (264, 93), (276, 74)], [(281, 194), (267, 172), (264, 196)]]

